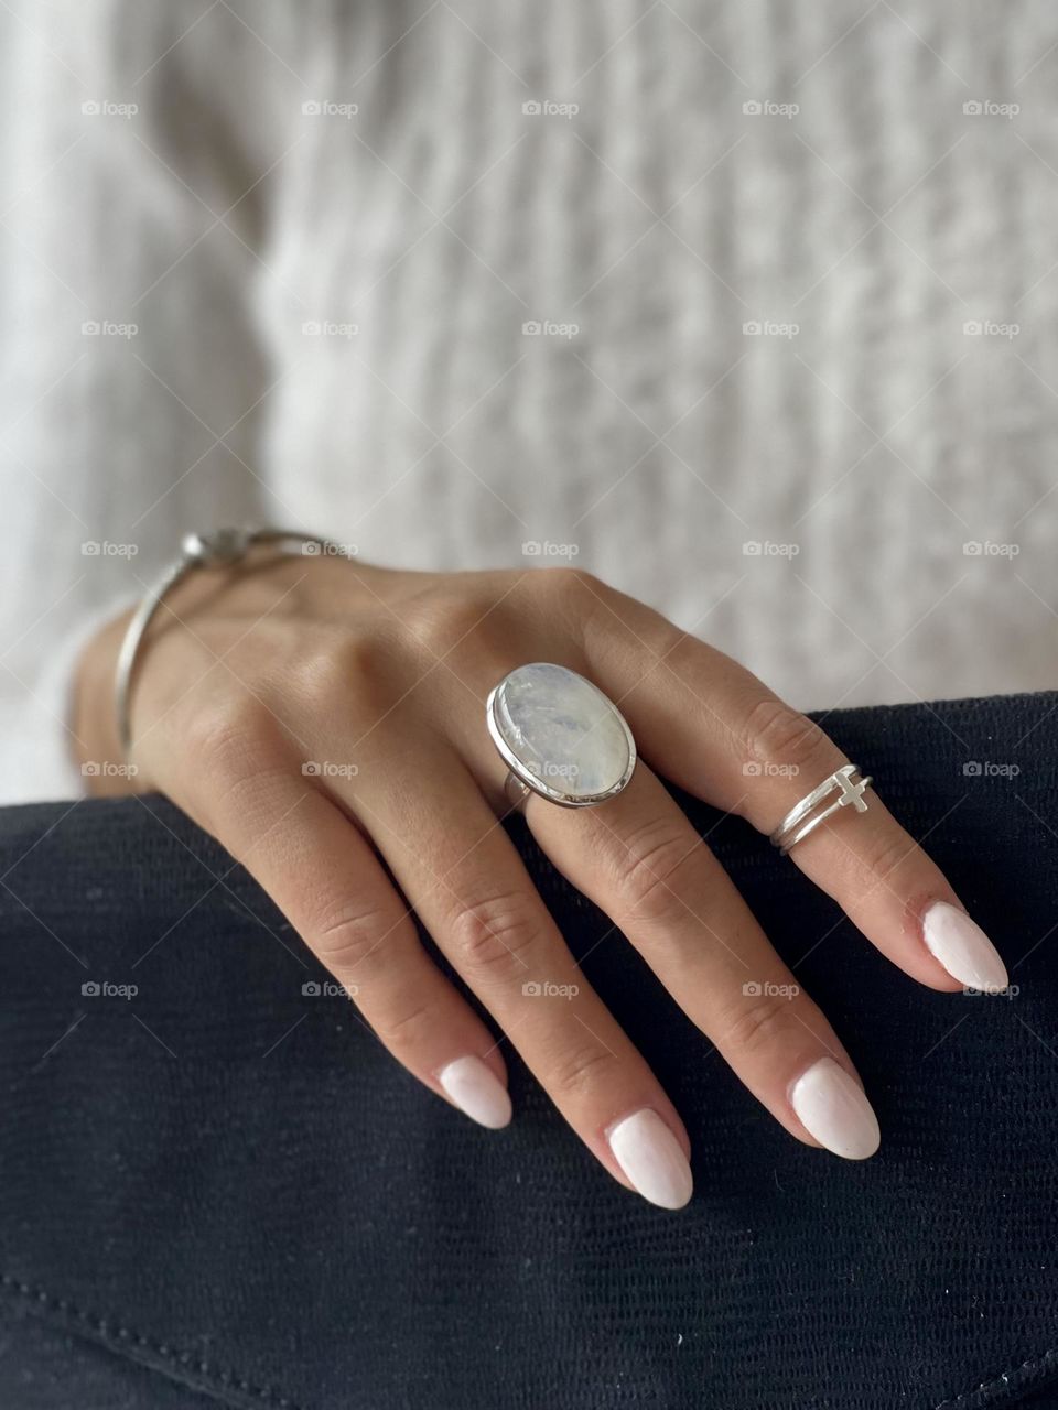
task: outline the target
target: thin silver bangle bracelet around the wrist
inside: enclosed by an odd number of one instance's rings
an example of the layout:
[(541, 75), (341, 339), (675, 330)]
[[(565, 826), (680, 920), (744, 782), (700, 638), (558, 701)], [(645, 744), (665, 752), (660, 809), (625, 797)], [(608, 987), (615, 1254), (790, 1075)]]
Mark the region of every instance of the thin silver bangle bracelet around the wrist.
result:
[(298, 529), (217, 529), (209, 534), (189, 533), (181, 543), (181, 556), (171, 564), (135, 609), (117, 653), (114, 671), (114, 713), (117, 716), (117, 737), (128, 757), (133, 747), (133, 733), (128, 719), (128, 695), (133, 668), (140, 653), (140, 644), (155, 612), (166, 592), (182, 582), (196, 568), (230, 568), (241, 563), (257, 544), (278, 544), (285, 553), (329, 554), (350, 557), (348, 550), (330, 539), (300, 533)]

